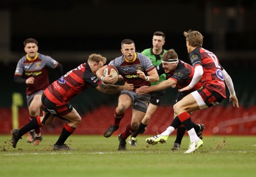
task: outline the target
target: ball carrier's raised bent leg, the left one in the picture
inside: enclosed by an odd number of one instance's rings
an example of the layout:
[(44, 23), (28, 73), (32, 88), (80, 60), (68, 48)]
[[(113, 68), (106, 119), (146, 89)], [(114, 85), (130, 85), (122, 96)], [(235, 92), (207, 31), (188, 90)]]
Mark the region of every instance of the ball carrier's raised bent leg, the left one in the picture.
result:
[(118, 130), (120, 121), (124, 118), (125, 110), (127, 110), (132, 104), (132, 97), (127, 95), (126, 92), (118, 97), (118, 105), (115, 110), (114, 123), (104, 132), (104, 137), (108, 138)]

